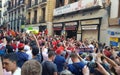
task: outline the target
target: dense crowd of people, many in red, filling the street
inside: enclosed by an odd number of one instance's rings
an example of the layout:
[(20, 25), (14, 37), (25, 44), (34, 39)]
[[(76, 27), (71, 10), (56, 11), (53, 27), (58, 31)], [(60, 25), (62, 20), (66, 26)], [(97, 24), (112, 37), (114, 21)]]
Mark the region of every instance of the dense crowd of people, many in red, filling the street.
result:
[(120, 75), (120, 51), (105, 43), (0, 30), (3, 75)]

